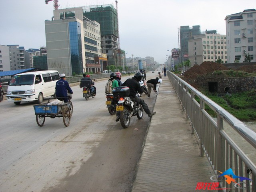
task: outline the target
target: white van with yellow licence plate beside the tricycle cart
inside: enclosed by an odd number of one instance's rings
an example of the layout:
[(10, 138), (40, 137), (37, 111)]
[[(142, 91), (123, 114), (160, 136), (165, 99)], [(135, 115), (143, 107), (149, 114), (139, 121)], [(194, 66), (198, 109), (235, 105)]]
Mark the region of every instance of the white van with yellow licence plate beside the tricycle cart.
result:
[(8, 102), (19, 105), (23, 101), (42, 103), (44, 97), (55, 95), (56, 82), (60, 80), (58, 71), (35, 71), (15, 75), (7, 89)]

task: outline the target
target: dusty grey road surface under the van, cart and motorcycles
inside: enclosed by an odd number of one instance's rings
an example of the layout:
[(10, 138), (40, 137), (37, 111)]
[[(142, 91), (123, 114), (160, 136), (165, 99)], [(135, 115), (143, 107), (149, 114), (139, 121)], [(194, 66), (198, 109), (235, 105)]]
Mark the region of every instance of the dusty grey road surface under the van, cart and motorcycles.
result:
[[(157, 75), (148, 72), (147, 80)], [(62, 118), (46, 118), (39, 127), (34, 102), (0, 103), (0, 192), (130, 191), (150, 118), (134, 116), (122, 128), (106, 108), (105, 84), (96, 82), (97, 95), (88, 101), (82, 88), (71, 87), (74, 111), (68, 127)], [(150, 110), (152, 97), (142, 95)]]

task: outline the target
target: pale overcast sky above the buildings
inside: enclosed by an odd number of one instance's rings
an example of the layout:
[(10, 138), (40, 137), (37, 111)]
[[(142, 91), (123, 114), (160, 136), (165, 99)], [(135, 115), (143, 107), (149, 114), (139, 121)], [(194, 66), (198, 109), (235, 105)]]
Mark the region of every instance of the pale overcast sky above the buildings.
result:
[[(59, 0), (59, 9), (100, 4), (116, 6), (115, 0)], [(120, 47), (126, 58), (152, 56), (162, 64), (167, 50), (178, 48), (180, 26), (226, 34), (225, 17), (252, 8), (255, 0), (118, 0)], [(51, 20), (53, 10), (53, 1), (1, 0), (0, 44), (46, 46), (44, 20)]]

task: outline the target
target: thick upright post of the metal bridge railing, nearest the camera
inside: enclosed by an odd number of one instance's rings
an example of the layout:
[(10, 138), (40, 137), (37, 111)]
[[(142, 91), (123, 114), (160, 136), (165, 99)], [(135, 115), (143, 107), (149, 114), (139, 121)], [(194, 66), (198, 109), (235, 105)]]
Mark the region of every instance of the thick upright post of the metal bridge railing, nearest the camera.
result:
[(220, 115), (217, 116), (217, 132), (215, 142), (217, 144), (217, 154), (216, 154), (216, 170), (221, 172), (225, 171), (225, 140), (220, 134), (223, 130), (223, 119)]

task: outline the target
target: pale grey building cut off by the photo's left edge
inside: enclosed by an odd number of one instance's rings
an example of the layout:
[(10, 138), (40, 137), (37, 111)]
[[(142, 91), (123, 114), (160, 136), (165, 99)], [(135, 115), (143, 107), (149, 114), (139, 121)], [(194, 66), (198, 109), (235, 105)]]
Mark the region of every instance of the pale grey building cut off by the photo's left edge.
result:
[(0, 45), (0, 72), (10, 71), (9, 47)]

